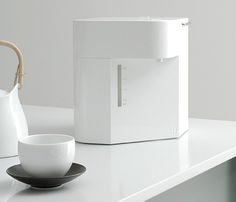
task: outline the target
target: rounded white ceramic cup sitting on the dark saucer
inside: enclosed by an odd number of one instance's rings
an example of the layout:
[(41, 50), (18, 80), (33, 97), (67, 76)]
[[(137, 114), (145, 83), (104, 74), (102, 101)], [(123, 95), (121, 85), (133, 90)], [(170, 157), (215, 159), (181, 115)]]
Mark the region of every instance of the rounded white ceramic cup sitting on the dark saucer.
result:
[(62, 134), (37, 134), (18, 141), (23, 169), (33, 177), (61, 177), (74, 160), (75, 140)]

